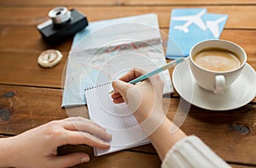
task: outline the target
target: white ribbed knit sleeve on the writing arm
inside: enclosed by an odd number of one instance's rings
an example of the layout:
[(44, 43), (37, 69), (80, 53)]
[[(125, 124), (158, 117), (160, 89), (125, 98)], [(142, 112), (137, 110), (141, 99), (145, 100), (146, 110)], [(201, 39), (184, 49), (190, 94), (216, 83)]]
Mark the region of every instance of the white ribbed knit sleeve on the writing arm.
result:
[(162, 162), (161, 168), (170, 167), (230, 167), (212, 152), (200, 138), (185, 137), (174, 144)]

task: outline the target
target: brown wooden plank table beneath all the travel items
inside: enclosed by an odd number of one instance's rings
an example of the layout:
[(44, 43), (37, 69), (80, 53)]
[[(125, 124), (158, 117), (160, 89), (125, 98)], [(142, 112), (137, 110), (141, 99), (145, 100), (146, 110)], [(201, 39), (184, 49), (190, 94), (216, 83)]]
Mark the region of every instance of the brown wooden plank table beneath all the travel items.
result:
[[(221, 39), (236, 42), (247, 52), (247, 63), (256, 70), (255, 0), (1, 0), (0, 1), (0, 109), (12, 115), (0, 121), (1, 137), (15, 136), (50, 120), (67, 117), (61, 109), (61, 77), (72, 40), (50, 46), (36, 25), (48, 19), (49, 9), (65, 5), (86, 14), (89, 21), (107, 20), (136, 14), (158, 14), (160, 29), (168, 33), (172, 8), (207, 8), (209, 13), (228, 14)], [(52, 69), (38, 66), (39, 53), (55, 48), (64, 59)], [(168, 117), (175, 115), (179, 96), (172, 95)], [(12, 102), (12, 104), (10, 103)], [(256, 166), (256, 99), (240, 109), (208, 111), (192, 106), (181, 127), (195, 134), (234, 167)], [(84, 107), (71, 109), (86, 116)], [(84, 145), (59, 148), (59, 154), (88, 151), (91, 161), (77, 167), (160, 167), (152, 145), (94, 157)]]

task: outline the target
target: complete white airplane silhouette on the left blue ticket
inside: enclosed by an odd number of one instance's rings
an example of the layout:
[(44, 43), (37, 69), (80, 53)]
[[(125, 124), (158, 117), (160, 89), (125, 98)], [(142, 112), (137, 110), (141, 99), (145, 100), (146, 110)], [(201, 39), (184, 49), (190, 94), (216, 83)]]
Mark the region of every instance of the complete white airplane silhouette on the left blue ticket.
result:
[(195, 15), (186, 15), (186, 16), (177, 16), (173, 17), (172, 20), (183, 20), (187, 21), (184, 25), (176, 25), (174, 26), (174, 29), (177, 29), (179, 31), (183, 31), (185, 33), (189, 32), (189, 25), (195, 24), (198, 27), (201, 28), (201, 30), (206, 31), (207, 26), (204, 24), (203, 20), (201, 20), (201, 16), (203, 14), (206, 14), (206, 10), (202, 10), (200, 13)]

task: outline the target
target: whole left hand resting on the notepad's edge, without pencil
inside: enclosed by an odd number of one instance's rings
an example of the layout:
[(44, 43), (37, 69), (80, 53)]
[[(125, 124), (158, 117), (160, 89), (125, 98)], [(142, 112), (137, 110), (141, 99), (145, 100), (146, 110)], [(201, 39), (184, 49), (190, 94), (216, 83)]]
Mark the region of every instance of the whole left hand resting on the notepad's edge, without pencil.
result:
[(0, 167), (70, 167), (88, 162), (90, 160), (88, 154), (57, 156), (57, 148), (66, 144), (87, 144), (96, 148), (109, 148), (109, 143), (103, 142), (98, 137), (106, 141), (111, 139), (111, 135), (104, 128), (91, 120), (71, 117), (51, 121), (18, 136), (1, 138)]

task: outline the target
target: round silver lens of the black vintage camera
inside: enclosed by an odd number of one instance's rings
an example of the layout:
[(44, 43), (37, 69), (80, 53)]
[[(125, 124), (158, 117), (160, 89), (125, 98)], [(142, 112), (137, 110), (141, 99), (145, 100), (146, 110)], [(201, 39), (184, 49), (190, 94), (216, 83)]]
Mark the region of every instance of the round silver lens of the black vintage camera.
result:
[(70, 20), (71, 13), (66, 7), (57, 7), (49, 11), (49, 18), (53, 24), (60, 25)]

